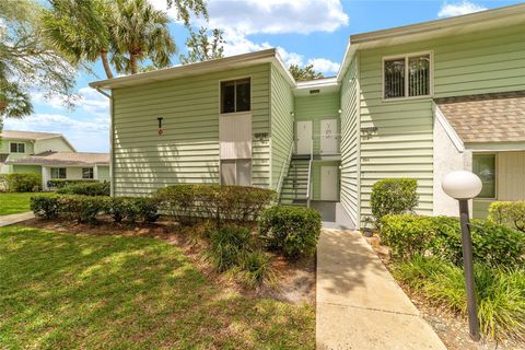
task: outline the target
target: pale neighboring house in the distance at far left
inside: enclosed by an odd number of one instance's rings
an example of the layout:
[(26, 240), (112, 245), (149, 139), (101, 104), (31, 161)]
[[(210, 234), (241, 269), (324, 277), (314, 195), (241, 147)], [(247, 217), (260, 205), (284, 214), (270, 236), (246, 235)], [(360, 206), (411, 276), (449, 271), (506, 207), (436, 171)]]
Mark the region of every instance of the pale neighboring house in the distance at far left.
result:
[(35, 173), (49, 179), (109, 180), (109, 154), (77, 152), (60, 133), (3, 130), (0, 173)]

